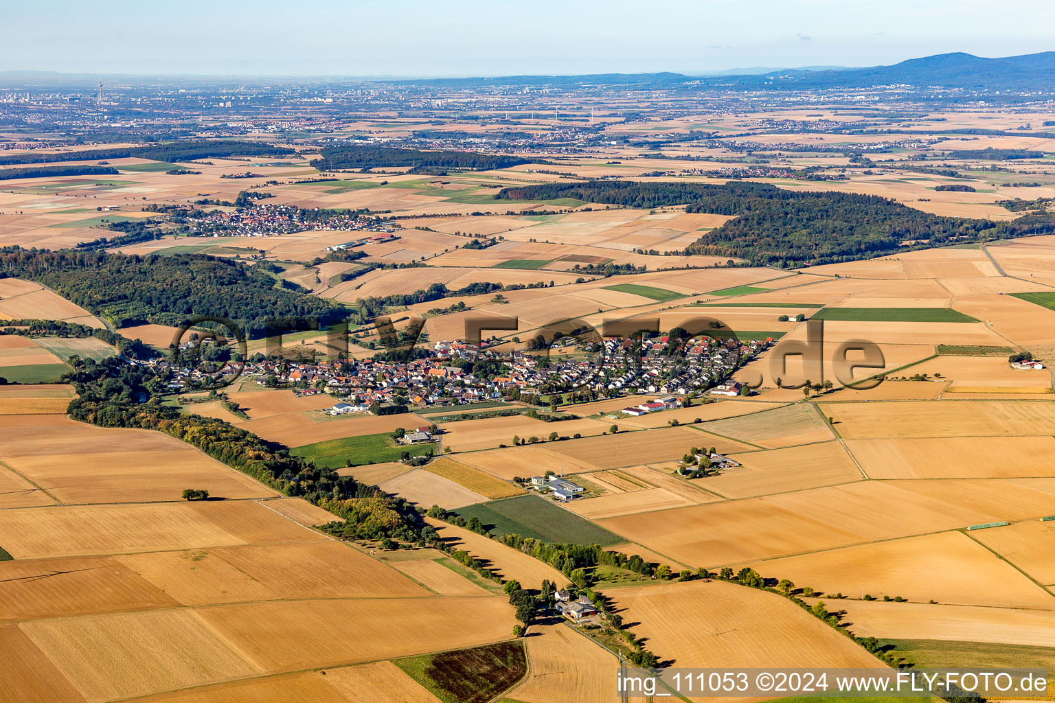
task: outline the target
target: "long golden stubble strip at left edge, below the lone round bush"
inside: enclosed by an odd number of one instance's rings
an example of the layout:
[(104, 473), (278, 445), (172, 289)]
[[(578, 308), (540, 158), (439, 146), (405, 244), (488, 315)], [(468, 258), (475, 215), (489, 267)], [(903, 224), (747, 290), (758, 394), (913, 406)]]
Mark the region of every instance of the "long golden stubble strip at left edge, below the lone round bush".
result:
[(323, 539), (255, 501), (25, 508), (0, 524), (0, 545), (15, 559)]

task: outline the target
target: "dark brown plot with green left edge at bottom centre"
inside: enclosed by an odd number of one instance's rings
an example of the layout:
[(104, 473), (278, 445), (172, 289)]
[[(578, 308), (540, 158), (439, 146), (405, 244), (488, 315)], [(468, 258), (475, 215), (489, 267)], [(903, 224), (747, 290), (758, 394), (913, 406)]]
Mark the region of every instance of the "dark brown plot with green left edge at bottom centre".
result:
[(485, 703), (528, 675), (523, 640), (395, 659), (443, 703)]

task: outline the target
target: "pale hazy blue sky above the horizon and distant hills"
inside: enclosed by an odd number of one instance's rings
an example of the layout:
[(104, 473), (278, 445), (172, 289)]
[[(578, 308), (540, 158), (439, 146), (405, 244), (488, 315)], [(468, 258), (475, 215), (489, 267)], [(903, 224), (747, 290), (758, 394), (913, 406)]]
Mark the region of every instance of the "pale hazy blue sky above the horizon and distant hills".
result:
[(494, 76), (1055, 50), (1051, 0), (3, 2), (0, 71)]

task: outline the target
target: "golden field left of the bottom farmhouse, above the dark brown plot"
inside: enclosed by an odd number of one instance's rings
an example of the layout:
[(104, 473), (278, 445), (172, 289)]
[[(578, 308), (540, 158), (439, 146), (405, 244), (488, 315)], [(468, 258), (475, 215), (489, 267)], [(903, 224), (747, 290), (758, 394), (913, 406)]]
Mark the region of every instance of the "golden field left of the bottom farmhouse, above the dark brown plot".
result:
[[(513, 607), (499, 595), (286, 601), (195, 613), (267, 671), (471, 647), (509, 639), (514, 622)], [(279, 642), (285, 646), (275, 646)]]

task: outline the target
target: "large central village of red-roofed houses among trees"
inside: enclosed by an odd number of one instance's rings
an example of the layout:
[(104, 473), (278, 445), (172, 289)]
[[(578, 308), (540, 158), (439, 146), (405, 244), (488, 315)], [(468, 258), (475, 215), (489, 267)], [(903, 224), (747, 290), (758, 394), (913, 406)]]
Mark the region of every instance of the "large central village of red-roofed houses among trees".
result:
[[(555, 409), (572, 401), (670, 395), (621, 411), (636, 416), (679, 407), (676, 396), (748, 393), (728, 378), (772, 344), (771, 338), (723, 341), (668, 336), (570, 346), (574, 341), (562, 337), (532, 352), (501, 351), (498, 347), (503, 343), (494, 340), (479, 346), (439, 341), (421, 350), (421, 358), (406, 363), (373, 357), (293, 360), (279, 354), (255, 354), (244, 365), (227, 360), (211, 367), (179, 360), (180, 355), (142, 363), (159, 373), (173, 392), (193, 392), (214, 385), (219, 377), (238, 374), (260, 386), (291, 388), (299, 395), (331, 395), (337, 401), (328, 411), (331, 414), (391, 414), (511, 401), (539, 405), (544, 401)], [(181, 350), (211, 344), (210, 339), (190, 339)]]

